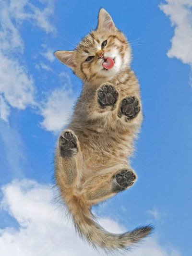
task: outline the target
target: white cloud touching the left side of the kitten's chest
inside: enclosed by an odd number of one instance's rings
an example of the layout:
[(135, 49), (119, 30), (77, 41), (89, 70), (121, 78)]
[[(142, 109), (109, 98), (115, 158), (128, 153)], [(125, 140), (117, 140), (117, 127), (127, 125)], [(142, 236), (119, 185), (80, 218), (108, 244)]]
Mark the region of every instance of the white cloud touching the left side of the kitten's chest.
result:
[(76, 97), (72, 91), (70, 77), (67, 73), (60, 74), (64, 85), (56, 88), (41, 103), (40, 114), (44, 120), (41, 122), (43, 128), (51, 132), (58, 132), (67, 123)]

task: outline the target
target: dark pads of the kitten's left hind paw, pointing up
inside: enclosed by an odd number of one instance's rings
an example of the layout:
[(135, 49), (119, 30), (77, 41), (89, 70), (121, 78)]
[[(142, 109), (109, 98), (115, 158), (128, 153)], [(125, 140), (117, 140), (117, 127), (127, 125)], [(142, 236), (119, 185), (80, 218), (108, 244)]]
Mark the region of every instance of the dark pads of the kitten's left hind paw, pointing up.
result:
[(60, 135), (60, 152), (64, 157), (71, 157), (73, 149), (77, 148), (77, 139), (70, 132), (64, 132)]

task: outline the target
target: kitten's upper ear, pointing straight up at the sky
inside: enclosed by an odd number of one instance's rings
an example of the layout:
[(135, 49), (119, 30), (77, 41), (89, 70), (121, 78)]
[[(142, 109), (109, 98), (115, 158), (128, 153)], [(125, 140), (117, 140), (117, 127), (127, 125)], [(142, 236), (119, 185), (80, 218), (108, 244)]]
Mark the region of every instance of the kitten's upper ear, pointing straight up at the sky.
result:
[(106, 12), (105, 9), (101, 8), (98, 16), (98, 25), (97, 30), (108, 30), (108, 31), (116, 31), (117, 28), (111, 19), (111, 16)]

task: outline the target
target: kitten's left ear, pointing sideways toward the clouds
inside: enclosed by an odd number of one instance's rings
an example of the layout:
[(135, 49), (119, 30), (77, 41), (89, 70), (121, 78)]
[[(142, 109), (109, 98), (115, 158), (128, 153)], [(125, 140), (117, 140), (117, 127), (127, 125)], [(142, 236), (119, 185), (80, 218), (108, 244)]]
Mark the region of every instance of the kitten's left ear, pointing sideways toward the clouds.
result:
[(74, 51), (64, 51), (58, 50), (54, 52), (55, 56), (58, 58), (60, 62), (67, 65), (71, 69), (76, 68), (76, 61), (74, 56)]

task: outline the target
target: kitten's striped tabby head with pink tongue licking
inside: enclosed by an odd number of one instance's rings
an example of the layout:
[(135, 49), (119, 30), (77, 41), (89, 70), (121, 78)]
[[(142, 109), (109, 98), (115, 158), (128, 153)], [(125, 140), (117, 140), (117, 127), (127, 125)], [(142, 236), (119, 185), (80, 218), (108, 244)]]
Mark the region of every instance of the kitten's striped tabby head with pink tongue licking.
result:
[(56, 51), (55, 56), (84, 82), (114, 78), (129, 66), (131, 49), (108, 12), (101, 9), (96, 30), (82, 39), (73, 51)]

